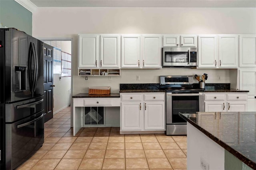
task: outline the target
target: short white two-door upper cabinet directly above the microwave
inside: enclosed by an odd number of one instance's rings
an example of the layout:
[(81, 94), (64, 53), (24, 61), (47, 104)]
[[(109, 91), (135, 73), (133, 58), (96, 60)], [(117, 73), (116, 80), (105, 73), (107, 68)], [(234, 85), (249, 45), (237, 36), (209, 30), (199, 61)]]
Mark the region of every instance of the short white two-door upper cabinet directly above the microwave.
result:
[(197, 47), (197, 36), (194, 35), (164, 35), (164, 47)]

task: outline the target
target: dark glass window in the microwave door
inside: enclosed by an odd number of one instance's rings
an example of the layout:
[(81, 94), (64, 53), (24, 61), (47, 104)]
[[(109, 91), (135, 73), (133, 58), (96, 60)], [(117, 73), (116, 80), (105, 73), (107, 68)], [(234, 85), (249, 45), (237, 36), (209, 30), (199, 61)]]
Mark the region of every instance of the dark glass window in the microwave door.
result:
[(188, 51), (168, 51), (165, 52), (165, 63), (188, 63)]

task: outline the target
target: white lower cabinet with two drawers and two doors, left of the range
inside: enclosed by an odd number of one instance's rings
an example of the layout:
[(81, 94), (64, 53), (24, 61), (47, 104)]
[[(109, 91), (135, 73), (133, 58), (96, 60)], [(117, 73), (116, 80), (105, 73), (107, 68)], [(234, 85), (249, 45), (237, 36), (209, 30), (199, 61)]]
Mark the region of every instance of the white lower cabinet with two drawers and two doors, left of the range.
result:
[(120, 131), (165, 130), (165, 93), (120, 93)]

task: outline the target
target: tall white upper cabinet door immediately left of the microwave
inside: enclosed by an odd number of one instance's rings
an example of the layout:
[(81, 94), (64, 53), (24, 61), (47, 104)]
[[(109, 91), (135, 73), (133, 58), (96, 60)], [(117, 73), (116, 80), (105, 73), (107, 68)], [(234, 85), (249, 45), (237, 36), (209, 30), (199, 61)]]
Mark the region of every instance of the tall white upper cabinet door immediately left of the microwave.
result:
[(161, 68), (162, 36), (142, 36), (142, 67)]

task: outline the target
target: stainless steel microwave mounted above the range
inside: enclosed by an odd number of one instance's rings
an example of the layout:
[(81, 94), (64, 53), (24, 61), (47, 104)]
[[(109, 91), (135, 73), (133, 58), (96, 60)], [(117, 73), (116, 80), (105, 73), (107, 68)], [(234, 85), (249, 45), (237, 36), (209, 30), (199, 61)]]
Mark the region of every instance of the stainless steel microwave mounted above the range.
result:
[(196, 47), (163, 47), (162, 67), (197, 66)]

